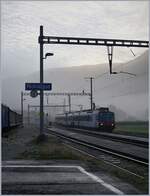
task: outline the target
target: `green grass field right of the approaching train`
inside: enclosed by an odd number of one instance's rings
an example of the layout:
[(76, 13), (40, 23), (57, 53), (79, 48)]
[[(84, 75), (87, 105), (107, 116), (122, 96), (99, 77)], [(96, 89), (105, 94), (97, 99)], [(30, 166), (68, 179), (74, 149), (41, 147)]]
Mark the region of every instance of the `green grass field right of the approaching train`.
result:
[(118, 122), (114, 132), (148, 137), (148, 122)]

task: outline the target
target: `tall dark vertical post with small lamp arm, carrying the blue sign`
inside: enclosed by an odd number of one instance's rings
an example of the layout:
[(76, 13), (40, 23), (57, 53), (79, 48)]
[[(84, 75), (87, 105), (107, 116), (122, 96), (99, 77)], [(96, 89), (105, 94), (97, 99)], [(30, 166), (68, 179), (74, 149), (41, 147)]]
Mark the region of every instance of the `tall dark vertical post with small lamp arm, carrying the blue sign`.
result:
[[(43, 42), (41, 39), (43, 38), (43, 26), (40, 26), (40, 37), (39, 37), (39, 43), (40, 43), (40, 83), (42, 84), (44, 81), (43, 76), (43, 59), (46, 59), (47, 56), (53, 56), (53, 53), (46, 53), (45, 57), (43, 57)], [(44, 139), (44, 112), (43, 112), (43, 90), (40, 90), (40, 139)]]

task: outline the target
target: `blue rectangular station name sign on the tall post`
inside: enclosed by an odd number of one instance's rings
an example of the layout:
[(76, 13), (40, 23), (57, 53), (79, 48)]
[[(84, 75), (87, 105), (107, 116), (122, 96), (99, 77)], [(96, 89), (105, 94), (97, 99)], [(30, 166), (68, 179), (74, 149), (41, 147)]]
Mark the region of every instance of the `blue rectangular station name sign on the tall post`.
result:
[(25, 83), (25, 90), (52, 90), (51, 83)]

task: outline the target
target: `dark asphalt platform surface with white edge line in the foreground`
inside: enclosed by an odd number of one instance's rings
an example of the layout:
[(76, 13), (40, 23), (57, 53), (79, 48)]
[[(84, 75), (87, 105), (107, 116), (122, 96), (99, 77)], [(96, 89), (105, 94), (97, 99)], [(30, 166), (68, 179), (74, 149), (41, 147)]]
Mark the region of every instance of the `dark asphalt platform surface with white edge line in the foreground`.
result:
[(35, 161), (5, 161), (2, 165), (2, 194), (122, 195), (125, 189), (137, 193), (127, 185), (123, 191), (120, 187), (120, 182), (114, 185), (106, 176), (103, 179), (80, 165)]

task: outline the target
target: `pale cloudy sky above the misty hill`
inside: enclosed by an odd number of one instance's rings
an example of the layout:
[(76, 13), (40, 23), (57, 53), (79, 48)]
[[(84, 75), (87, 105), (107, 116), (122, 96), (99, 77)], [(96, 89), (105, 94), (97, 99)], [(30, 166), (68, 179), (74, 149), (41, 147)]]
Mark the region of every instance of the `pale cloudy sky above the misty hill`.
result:
[[(149, 40), (148, 1), (2, 1), (2, 79), (39, 71), (39, 27), (44, 35)], [(136, 55), (143, 48), (134, 48)], [(44, 69), (108, 63), (107, 48), (45, 45)], [(129, 48), (115, 48), (114, 62), (132, 60)]]

